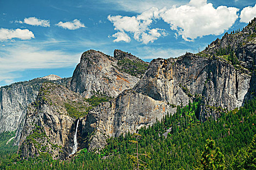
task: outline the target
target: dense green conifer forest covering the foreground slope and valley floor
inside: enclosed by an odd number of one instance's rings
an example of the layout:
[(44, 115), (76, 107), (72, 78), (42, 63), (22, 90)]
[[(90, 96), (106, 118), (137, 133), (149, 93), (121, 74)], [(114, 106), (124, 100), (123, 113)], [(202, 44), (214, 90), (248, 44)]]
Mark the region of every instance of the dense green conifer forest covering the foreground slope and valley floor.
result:
[[(256, 134), (256, 100), (245, 103), (240, 109), (223, 111), (217, 120), (205, 122), (197, 119), (199, 105), (200, 101), (194, 101), (185, 107), (177, 106), (177, 113), (173, 116), (166, 115), (152, 126), (138, 131), (141, 136), (138, 138), (138, 153), (148, 155), (139, 156), (139, 159), (145, 162), (147, 169), (201, 170), (207, 169), (206, 165), (214, 166), (216, 170), (224, 166), (226, 170), (253, 169), (256, 166), (256, 137), (253, 139)], [(10, 162), (11, 156), (1, 157), (0, 169), (131, 170), (135, 168), (135, 162), (129, 155), (136, 152), (137, 144), (132, 140), (134, 137), (129, 132), (117, 138), (111, 137), (100, 153), (88, 153), (83, 149), (74, 159), (67, 161), (39, 157)]]

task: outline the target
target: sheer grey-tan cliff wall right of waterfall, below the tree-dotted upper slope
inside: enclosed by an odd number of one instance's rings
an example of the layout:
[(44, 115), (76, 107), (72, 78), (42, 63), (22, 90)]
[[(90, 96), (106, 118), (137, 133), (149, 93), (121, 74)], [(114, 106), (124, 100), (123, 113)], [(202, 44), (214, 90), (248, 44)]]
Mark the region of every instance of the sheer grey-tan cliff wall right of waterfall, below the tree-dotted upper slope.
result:
[(217, 107), (232, 110), (242, 105), (250, 79), (249, 73), (221, 58), (187, 53), (177, 59), (155, 59), (134, 88), (89, 112), (83, 128), (84, 136), (95, 133), (89, 150), (103, 147), (106, 136), (134, 133), (166, 114), (174, 114), (174, 106), (187, 105), (197, 94), (203, 99), (198, 119), (216, 118), (220, 113)]

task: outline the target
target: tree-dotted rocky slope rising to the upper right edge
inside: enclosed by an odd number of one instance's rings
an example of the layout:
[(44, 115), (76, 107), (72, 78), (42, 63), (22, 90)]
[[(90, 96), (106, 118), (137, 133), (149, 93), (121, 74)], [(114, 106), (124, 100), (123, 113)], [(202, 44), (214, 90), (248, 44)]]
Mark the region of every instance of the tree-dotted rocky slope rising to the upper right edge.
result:
[(221, 39), (216, 39), (202, 53), (216, 55), (250, 70), (256, 63), (256, 18), (242, 30), (230, 34), (225, 33)]

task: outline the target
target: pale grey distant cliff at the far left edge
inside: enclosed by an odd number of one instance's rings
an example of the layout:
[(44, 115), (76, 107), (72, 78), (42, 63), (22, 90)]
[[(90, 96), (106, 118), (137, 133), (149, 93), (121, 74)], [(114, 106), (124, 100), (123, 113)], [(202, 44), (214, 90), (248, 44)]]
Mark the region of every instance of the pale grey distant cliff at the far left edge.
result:
[[(0, 133), (16, 132), (16, 144), (20, 139), (20, 132), (24, 123), (27, 106), (37, 98), (40, 86), (46, 79), (33, 79), (0, 88)], [(69, 79), (52, 81), (67, 84)]]

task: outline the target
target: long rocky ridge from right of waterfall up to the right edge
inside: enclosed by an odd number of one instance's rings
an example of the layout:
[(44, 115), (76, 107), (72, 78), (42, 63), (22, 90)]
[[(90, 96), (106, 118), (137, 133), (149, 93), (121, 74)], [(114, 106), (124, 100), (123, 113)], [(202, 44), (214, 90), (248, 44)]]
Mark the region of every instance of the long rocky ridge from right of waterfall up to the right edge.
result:
[[(133, 88), (89, 111), (82, 131), (82, 136), (90, 136), (87, 148), (99, 150), (109, 136), (118, 137), (128, 131), (135, 133), (163, 116), (173, 115), (178, 105), (188, 105), (189, 101), (201, 101), (196, 117), (203, 122), (217, 119), (223, 111), (234, 110), (253, 99), (255, 22), (256, 19), (241, 32), (225, 34), (197, 54), (152, 60)], [(236, 46), (237, 41), (243, 42), (238, 43), (241, 46)], [(220, 47), (232, 47), (233, 50), (223, 56), (216, 52)], [(241, 48), (246, 49), (242, 55)]]

